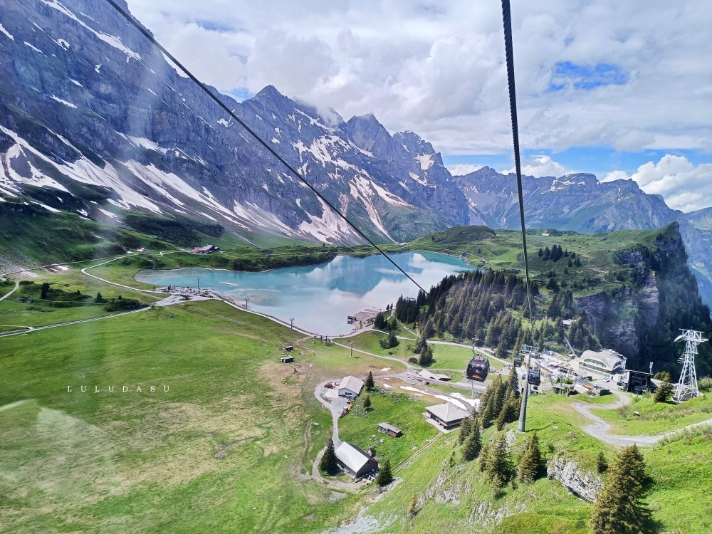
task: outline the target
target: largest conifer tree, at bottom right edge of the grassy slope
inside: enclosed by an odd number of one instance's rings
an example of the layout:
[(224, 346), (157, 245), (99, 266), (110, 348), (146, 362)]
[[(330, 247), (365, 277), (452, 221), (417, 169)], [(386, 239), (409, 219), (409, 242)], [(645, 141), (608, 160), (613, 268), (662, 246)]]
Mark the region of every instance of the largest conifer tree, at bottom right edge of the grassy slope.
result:
[(621, 451), (591, 514), (593, 534), (642, 534), (650, 511), (641, 502), (645, 462), (637, 446)]

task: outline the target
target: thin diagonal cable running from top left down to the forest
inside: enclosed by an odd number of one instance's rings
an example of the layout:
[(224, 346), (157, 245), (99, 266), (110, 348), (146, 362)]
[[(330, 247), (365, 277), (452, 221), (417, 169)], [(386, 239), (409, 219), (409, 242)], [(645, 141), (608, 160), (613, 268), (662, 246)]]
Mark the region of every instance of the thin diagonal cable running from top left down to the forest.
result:
[(131, 14), (127, 13), (127, 11), (125, 11), (124, 9), (122, 9), (121, 6), (117, 5), (114, 0), (106, 0), (106, 1), (107, 1), (109, 4), (111, 4), (111, 6), (113, 6), (113, 8), (114, 8), (116, 11), (118, 11), (118, 12), (124, 17), (124, 19), (126, 19), (127, 21), (129, 21), (129, 22), (132, 24), (132, 26), (134, 26), (138, 31), (140, 31), (140, 33), (142, 33), (142, 35), (145, 36), (145, 38), (147, 38), (149, 41), (151, 41), (151, 43), (152, 43), (156, 48), (158, 48), (160, 51), (162, 51), (162, 53), (164, 53), (173, 63), (175, 63), (175, 65), (176, 65), (177, 67), (179, 67), (184, 73), (186, 73), (186, 75), (188, 76), (188, 78), (190, 78), (191, 80), (193, 80), (194, 83), (196, 83), (196, 84), (198, 85), (198, 87), (201, 88), (201, 90), (203, 90), (204, 93), (206, 93), (206, 95), (208, 95), (212, 100), (215, 101), (215, 103), (216, 103), (217, 105), (220, 106), (220, 108), (222, 108), (228, 115), (230, 115), (230, 117), (234, 118), (234, 120), (236, 120), (236, 122), (238, 122), (239, 125), (241, 125), (242, 127), (244, 127), (244, 129), (248, 132), (249, 135), (251, 135), (260, 145), (262, 145), (264, 148), (266, 148), (266, 149), (268, 150), (268, 152), (270, 152), (274, 157), (276, 157), (276, 158), (279, 160), (279, 162), (281, 162), (287, 169), (289, 169), (289, 171), (290, 171), (292, 174), (294, 174), (294, 176), (297, 177), (301, 182), (303, 182), (303, 184), (305, 184), (307, 187), (309, 187), (309, 189), (311, 189), (311, 190), (314, 192), (314, 194), (316, 194), (317, 197), (319, 197), (321, 200), (323, 200), (323, 201), (325, 202), (325, 204), (327, 204), (327, 206), (329, 206), (331, 209), (333, 209), (333, 211), (334, 211), (338, 216), (340, 216), (342, 219), (344, 219), (344, 221), (346, 221), (347, 224), (348, 224), (349, 226), (351, 226), (352, 229), (354, 229), (354, 230), (357, 232), (357, 234), (359, 234), (363, 239), (365, 239), (366, 241), (368, 241), (368, 243), (369, 243), (373, 248), (375, 248), (382, 256), (384, 256), (384, 258), (386, 258), (390, 263), (392, 263), (395, 268), (397, 268), (401, 273), (403, 273), (404, 276), (406, 276), (406, 278), (409, 279), (409, 281), (411, 281), (412, 283), (414, 283), (414, 284), (415, 284), (420, 290), (422, 290), (426, 295), (428, 294), (428, 292), (427, 292), (424, 288), (422, 288), (422, 286), (420, 286), (419, 283), (417, 283), (416, 281), (414, 281), (414, 279), (413, 279), (408, 273), (406, 273), (406, 272), (401, 268), (401, 266), (399, 266), (395, 261), (393, 261), (393, 259), (390, 258), (390, 256), (388, 256), (386, 253), (384, 253), (384, 251), (382, 251), (381, 248), (379, 248), (379, 246), (377, 246), (377, 244), (375, 244), (375, 243), (374, 243), (366, 234), (364, 234), (355, 224), (353, 224), (349, 219), (347, 219), (346, 216), (341, 213), (341, 211), (339, 211), (338, 209), (336, 209), (336, 207), (335, 207), (330, 201), (328, 201), (327, 199), (325, 199), (325, 197), (323, 197), (323, 195), (322, 195), (320, 192), (318, 192), (318, 190), (317, 190), (315, 187), (313, 187), (312, 184), (310, 184), (309, 182), (307, 182), (307, 180), (300, 174), (300, 172), (297, 171), (297, 169), (295, 169), (292, 165), (290, 165), (290, 164), (286, 161), (286, 159), (284, 159), (283, 157), (281, 157), (281, 155), (279, 155), (278, 152), (273, 149), (273, 147), (271, 147), (270, 145), (268, 145), (265, 140), (263, 140), (259, 135), (257, 135), (257, 133), (254, 132), (254, 131), (246, 124), (246, 122), (244, 122), (240, 117), (238, 117), (238, 116), (235, 114), (235, 112), (233, 112), (232, 110), (230, 110), (230, 108), (228, 108), (228, 107), (222, 102), (222, 100), (220, 100), (219, 98), (217, 98), (216, 95), (214, 95), (213, 92), (212, 92), (211, 90), (209, 90), (209, 89), (206, 87), (206, 85), (205, 85), (204, 83), (202, 83), (198, 78), (196, 78), (187, 68), (185, 68), (185, 67), (183, 66), (182, 63), (180, 63), (169, 51), (167, 51), (166, 48), (164, 48), (164, 47), (161, 45), (161, 43), (159, 43), (159, 42), (156, 40), (156, 38), (155, 38), (154, 36), (152, 36), (152, 34), (151, 34), (146, 28), (144, 28), (144, 27), (142, 26), (142, 24), (140, 24), (140, 23), (137, 21), (137, 19), (135, 19)]

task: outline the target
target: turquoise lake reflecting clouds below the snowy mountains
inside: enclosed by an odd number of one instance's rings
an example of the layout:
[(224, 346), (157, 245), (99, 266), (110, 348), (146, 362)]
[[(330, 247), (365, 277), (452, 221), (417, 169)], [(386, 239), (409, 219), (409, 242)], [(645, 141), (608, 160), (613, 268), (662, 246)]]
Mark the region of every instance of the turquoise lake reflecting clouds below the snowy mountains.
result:
[[(445, 276), (471, 270), (465, 261), (430, 252), (404, 252), (390, 257), (425, 290)], [(350, 333), (349, 315), (366, 308), (384, 310), (400, 295), (416, 297), (418, 288), (383, 256), (337, 256), (328, 263), (246, 273), (184, 268), (142, 271), (136, 279), (155, 286), (210, 288), (250, 310), (272, 315), (321, 335)], [(249, 299), (249, 300), (247, 300)]]

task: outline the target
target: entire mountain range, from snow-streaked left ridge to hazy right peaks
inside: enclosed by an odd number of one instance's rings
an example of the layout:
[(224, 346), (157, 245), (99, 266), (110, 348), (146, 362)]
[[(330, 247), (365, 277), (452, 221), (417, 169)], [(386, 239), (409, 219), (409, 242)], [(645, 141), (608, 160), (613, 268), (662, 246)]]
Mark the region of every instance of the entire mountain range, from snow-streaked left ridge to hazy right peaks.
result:
[[(127, 9), (124, 1), (120, 4)], [(215, 91), (216, 92), (216, 91)], [(370, 238), (519, 225), (515, 180), (452, 177), (414, 132), (343, 120), (268, 86), (220, 97)], [(712, 209), (683, 214), (631, 181), (525, 177), (529, 227), (597, 232), (679, 221), (712, 303)], [(100, 0), (0, 4), (0, 199), (120, 224), (126, 211), (331, 243), (360, 241), (308, 187)]]

